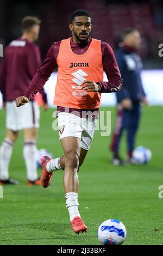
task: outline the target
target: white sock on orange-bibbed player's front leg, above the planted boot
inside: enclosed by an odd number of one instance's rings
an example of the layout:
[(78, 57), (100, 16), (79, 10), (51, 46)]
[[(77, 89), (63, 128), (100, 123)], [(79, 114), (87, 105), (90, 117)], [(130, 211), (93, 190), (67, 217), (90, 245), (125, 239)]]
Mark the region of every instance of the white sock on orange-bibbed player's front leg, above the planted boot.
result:
[(68, 208), (68, 212), (70, 214), (70, 221), (73, 220), (74, 217), (79, 216), (79, 211), (78, 211), (78, 193), (75, 192), (70, 192), (65, 194), (66, 198), (66, 208)]

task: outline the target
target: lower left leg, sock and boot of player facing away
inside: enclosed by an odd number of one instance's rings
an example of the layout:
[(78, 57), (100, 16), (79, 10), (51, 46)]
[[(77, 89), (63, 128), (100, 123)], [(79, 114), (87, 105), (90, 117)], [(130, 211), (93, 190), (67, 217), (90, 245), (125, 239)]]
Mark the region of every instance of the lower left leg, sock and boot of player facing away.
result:
[(2, 184), (18, 185), (17, 180), (9, 178), (9, 163), (11, 160), (12, 149), (18, 137), (18, 131), (7, 129), (7, 134), (0, 149), (0, 180)]

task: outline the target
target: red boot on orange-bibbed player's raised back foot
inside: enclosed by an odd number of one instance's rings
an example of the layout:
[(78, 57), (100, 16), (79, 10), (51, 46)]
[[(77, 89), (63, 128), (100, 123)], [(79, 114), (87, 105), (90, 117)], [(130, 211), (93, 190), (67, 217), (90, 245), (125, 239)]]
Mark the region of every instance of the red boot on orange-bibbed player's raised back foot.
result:
[(41, 158), (41, 165), (42, 165), (42, 173), (41, 173), (41, 185), (43, 187), (48, 187), (52, 178), (53, 173), (48, 173), (46, 169), (46, 164), (51, 161), (48, 156), (43, 156)]

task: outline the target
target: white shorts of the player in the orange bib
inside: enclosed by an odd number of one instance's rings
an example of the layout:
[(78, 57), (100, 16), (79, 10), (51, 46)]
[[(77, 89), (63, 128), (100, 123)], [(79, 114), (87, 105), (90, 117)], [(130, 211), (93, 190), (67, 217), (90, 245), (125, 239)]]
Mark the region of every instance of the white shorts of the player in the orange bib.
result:
[(78, 137), (80, 139), (80, 147), (89, 150), (96, 130), (97, 121), (98, 119), (80, 118), (71, 113), (59, 112), (59, 139)]

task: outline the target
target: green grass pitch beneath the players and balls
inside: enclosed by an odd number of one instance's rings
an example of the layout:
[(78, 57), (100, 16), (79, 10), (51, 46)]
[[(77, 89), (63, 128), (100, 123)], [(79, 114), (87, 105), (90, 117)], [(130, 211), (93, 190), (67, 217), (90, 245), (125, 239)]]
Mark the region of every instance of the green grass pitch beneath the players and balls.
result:
[[(111, 111), (114, 126), (115, 108)], [(38, 148), (62, 154), (58, 132), (52, 130), (52, 113), (41, 112)], [(153, 158), (145, 166), (111, 166), (109, 137), (96, 131), (86, 160), (79, 172), (79, 211), (88, 226), (85, 234), (76, 235), (65, 208), (62, 171), (55, 172), (53, 186), (27, 187), (22, 148), (22, 133), (15, 145), (10, 176), (19, 186), (4, 186), (0, 199), (0, 245), (100, 245), (98, 225), (109, 218), (121, 220), (127, 228), (124, 245), (163, 245), (163, 199), (158, 187), (163, 185), (163, 108), (143, 107), (136, 145), (152, 150)], [(0, 111), (0, 143), (5, 135), (5, 112)], [(121, 155), (126, 155), (123, 139)], [(39, 174), (41, 170), (39, 170)]]

